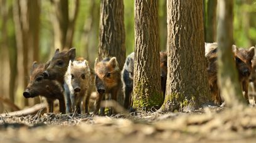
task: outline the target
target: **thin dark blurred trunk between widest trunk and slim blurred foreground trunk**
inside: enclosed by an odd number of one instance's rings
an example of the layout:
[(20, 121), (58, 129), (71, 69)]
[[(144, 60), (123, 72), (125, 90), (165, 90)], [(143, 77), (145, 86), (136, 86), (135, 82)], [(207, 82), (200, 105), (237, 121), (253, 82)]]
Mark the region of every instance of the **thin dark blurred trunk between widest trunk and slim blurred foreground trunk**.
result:
[(209, 0), (207, 3), (207, 23), (206, 23), (206, 42), (216, 42), (216, 9), (217, 0)]

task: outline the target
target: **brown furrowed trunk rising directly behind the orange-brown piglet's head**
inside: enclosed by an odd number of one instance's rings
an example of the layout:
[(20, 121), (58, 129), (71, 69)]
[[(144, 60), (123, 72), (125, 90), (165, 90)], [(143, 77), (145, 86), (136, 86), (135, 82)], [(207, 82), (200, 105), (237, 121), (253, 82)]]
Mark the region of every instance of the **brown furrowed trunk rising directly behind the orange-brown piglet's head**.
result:
[(115, 56), (122, 69), (125, 62), (124, 1), (101, 0), (99, 60)]

